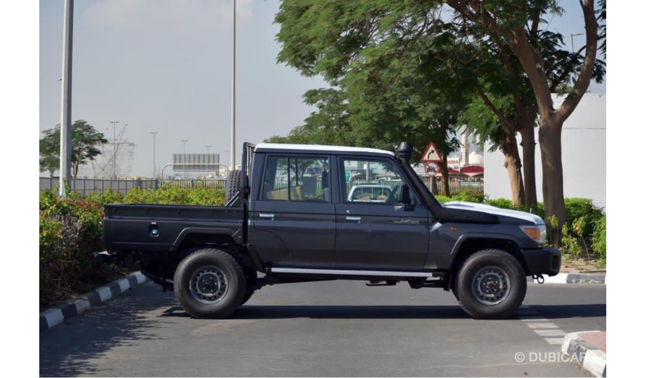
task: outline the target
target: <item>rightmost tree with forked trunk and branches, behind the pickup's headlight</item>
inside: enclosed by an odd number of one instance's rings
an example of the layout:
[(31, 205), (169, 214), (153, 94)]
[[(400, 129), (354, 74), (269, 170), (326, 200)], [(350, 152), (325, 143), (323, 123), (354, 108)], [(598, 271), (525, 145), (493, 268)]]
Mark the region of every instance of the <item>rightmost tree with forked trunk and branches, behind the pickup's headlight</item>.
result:
[[(599, 25), (593, 0), (580, 0), (585, 21), (586, 43), (579, 54), (568, 56), (563, 50), (556, 55), (547, 55), (536, 45), (537, 30), (546, 14), (560, 14), (556, 0), (447, 0), (460, 21), (470, 29), (485, 34), (501, 50), (508, 48), (519, 61), (522, 74), (526, 75), (539, 114), (539, 146), (543, 165), (543, 199), (545, 216), (556, 216), (559, 227), (565, 224), (565, 201), (563, 198), (563, 162), (561, 161), (561, 131), (563, 122), (572, 114), (592, 79), (597, 59)], [(605, 6), (604, 6), (605, 8)], [(605, 12), (603, 12), (605, 17)], [(605, 31), (605, 30), (604, 30)], [(554, 34), (559, 45), (562, 36)], [(602, 41), (603, 43), (603, 41)], [(580, 56), (580, 52), (585, 54)], [(556, 58), (556, 59), (553, 59)], [(580, 62), (580, 65), (577, 63)], [(553, 69), (557, 63), (565, 63), (559, 73)], [(572, 85), (568, 85), (571, 80)], [(554, 109), (552, 93), (559, 87), (567, 87), (565, 100)]]

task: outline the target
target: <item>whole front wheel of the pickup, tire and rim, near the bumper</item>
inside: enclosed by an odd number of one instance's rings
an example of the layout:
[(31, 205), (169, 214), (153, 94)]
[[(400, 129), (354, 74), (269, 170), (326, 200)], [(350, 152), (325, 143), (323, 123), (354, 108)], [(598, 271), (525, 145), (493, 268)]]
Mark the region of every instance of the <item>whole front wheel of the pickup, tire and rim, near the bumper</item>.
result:
[(457, 276), (460, 306), (475, 319), (505, 319), (525, 299), (525, 271), (515, 257), (485, 249), (467, 258)]

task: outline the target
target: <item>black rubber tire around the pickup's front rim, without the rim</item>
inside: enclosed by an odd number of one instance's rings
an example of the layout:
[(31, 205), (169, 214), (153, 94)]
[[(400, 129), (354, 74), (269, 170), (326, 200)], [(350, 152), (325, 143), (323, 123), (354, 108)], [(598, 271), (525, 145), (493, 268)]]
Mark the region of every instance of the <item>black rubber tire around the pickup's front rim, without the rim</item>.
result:
[[(483, 268), (501, 269), (508, 277), (508, 294), (502, 302), (484, 304), (474, 293), (475, 275)], [(506, 319), (514, 314), (525, 299), (525, 271), (515, 257), (501, 249), (483, 249), (468, 257), (455, 278), (455, 297), (461, 308), (475, 319)]]

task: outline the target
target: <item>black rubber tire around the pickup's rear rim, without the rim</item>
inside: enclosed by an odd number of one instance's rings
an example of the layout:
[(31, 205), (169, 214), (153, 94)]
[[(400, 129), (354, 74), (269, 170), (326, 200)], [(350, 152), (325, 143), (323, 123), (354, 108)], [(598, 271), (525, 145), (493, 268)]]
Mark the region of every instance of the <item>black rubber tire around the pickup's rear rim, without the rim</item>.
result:
[[(218, 302), (200, 302), (191, 291), (191, 278), (205, 267), (214, 266), (224, 273), (226, 290)], [(184, 310), (194, 318), (222, 319), (235, 311), (247, 293), (247, 278), (238, 260), (220, 249), (194, 251), (177, 266), (174, 276), (175, 295)]]

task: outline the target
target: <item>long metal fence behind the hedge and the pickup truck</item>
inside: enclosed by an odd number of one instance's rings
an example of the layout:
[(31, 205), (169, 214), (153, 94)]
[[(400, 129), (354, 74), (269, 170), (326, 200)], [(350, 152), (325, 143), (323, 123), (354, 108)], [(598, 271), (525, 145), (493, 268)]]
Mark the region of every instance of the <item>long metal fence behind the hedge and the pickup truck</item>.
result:
[[(429, 177), (422, 178), (422, 181), (431, 190), (431, 179)], [(58, 187), (59, 178), (57, 177), (41, 177), (40, 190), (55, 189)], [(125, 195), (134, 187), (141, 189), (158, 189), (160, 187), (178, 187), (182, 189), (193, 188), (207, 188), (207, 189), (226, 189), (226, 180), (109, 180), (100, 178), (73, 178), (71, 190), (81, 193), (81, 196), (86, 196), (90, 193), (104, 193), (108, 188), (112, 191), (118, 191)], [(354, 185), (400, 185), (399, 180), (361, 180), (360, 182), (353, 182)], [(463, 181), (463, 182), (450, 182), (449, 190), (451, 194), (459, 191), (484, 191), (485, 185), (481, 181)], [(437, 180), (437, 194), (445, 196), (444, 187), (439, 180)]]

